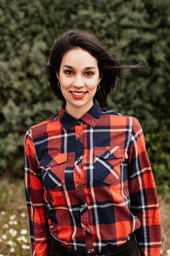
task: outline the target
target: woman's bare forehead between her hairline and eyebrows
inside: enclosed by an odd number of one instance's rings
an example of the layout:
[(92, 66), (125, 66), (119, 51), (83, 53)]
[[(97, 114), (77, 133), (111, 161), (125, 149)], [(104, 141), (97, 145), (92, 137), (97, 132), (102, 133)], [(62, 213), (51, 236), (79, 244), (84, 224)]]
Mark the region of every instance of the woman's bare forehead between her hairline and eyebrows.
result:
[(93, 65), (97, 67), (98, 61), (87, 50), (74, 48), (68, 50), (65, 55), (63, 55), (61, 66), (63, 65), (70, 65), (72, 67), (88, 67)]

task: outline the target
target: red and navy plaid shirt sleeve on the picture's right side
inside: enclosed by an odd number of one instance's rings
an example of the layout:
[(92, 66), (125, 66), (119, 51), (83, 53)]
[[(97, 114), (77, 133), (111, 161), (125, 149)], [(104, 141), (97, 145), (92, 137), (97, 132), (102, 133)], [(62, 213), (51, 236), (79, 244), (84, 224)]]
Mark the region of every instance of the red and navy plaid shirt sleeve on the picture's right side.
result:
[(139, 230), (135, 231), (139, 250), (141, 255), (157, 256), (161, 253), (161, 218), (156, 185), (146, 153), (144, 134), (139, 121), (134, 118), (128, 158), (131, 212), (141, 223)]

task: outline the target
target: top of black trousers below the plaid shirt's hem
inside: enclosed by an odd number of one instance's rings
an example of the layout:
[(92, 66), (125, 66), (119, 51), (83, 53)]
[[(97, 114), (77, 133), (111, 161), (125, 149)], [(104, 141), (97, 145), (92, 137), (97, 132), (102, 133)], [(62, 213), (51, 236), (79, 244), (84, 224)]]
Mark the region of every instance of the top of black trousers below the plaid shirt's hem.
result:
[(127, 241), (125, 244), (123, 244), (120, 247), (116, 247), (113, 251), (109, 251), (107, 253), (77, 253), (71, 251), (71, 249), (68, 249), (63, 246), (59, 246), (57, 242), (52, 237), (52, 243), (51, 243), (51, 250), (50, 250), (50, 256), (139, 256), (139, 247), (134, 239), (134, 236)]

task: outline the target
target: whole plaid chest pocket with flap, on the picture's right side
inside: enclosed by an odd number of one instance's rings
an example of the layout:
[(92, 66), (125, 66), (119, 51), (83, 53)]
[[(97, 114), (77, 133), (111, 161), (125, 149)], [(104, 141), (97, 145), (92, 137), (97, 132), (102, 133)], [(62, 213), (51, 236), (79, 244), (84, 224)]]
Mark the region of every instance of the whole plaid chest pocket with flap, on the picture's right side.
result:
[(124, 148), (119, 146), (94, 148), (94, 185), (119, 183), (120, 163), (123, 160), (125, 160)]

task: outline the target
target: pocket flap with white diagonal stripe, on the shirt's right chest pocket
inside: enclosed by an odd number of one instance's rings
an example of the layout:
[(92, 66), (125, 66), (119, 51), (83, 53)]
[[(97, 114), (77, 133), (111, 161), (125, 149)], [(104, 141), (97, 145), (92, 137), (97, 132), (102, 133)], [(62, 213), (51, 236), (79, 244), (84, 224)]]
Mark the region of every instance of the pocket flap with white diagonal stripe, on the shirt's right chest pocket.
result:
[(115, 147), (98, 147), (94, 148), (94, 155), (105, 160), (114, 160), (117, 158), (125, 158), (125, 149), (120, 146)]

